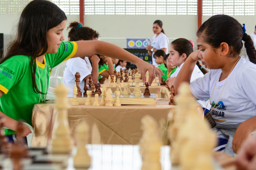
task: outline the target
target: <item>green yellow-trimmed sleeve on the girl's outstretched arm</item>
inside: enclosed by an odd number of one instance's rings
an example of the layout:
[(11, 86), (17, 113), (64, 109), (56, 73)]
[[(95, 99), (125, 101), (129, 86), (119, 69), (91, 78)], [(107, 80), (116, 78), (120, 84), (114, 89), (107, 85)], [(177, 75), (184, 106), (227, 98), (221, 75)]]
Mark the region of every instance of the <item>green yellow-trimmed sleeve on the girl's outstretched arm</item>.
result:
[(72, 58), (77, 53), (76, 42), (61, 42), (58, 52), (54, 54), (46, 54), (45, 58), (49, 65), (53, 68), (59, 65), (61, 62)]

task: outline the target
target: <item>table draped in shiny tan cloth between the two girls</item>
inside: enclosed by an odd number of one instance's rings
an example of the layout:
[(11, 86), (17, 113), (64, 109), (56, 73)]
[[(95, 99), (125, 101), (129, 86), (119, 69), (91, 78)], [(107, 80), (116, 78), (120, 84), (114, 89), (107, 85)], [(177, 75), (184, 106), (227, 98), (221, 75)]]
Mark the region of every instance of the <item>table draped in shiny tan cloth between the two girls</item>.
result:
[[(80, 121), (89, 127), (91, 144), (138, 144), (142, 135), (141, 118), (151, 115), (166, 123), (168, 113), (176, 106), (168, 105), (169, 99), (157, 99), (154, 105), (122, 105), (121, 107), (75, 105), (68, 109), (72, 130)], [(31, 146), (44, 147), (51, 139), (57, 122), (54, 101), (36, 104), (32, 113), (34, 134)]]

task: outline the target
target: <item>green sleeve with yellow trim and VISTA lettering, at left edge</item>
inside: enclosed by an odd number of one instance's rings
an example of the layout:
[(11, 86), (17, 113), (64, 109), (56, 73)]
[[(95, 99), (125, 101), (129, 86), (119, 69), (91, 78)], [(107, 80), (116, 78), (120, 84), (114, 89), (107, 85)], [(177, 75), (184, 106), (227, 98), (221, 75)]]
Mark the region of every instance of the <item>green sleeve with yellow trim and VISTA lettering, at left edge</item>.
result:
[(23, 73), (22, 65), (14, 57), (4, 61), (4, 63), (0, 64), (0, 90), (7, 94), (20, 81)]

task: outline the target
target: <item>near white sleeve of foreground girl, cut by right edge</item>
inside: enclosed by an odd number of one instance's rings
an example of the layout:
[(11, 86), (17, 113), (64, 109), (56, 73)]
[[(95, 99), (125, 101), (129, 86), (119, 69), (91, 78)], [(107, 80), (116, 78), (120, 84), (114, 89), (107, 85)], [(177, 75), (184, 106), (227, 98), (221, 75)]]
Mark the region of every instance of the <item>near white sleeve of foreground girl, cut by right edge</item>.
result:
[(241, 89), (244, 91), (248, 100), (256, 105), (256, 69), (255, 67), (247, 67), (241, 74)]

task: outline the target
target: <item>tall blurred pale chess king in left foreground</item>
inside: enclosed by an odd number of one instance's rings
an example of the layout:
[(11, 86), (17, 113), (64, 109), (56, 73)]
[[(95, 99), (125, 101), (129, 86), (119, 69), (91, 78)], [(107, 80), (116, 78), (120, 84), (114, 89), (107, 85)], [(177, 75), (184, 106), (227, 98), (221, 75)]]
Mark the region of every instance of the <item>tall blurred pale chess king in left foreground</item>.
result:
[(70, 154), (74, 142), (71, 137), (71, 130), (68, 122), (67, 109), (69, 107), (67, 94), (69, 89), (60, 84), (55, 89), (56, 108), (58, 109), (58, 124), (53, 132), (51, 151), (52, 153)]

